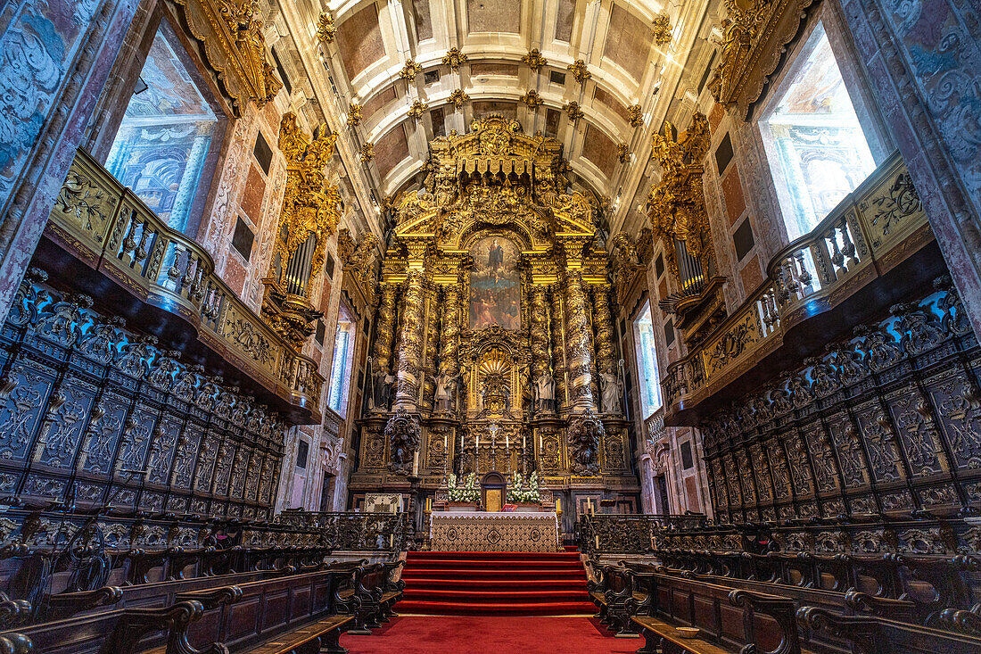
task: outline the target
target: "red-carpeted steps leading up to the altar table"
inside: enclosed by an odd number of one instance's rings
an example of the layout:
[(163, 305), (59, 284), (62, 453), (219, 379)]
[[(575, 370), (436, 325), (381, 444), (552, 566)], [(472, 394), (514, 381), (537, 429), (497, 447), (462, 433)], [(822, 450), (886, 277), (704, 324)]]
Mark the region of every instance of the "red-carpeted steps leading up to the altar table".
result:
[(401, 614), (557, 616), (595, 611), (574, 552), (409, 552)]

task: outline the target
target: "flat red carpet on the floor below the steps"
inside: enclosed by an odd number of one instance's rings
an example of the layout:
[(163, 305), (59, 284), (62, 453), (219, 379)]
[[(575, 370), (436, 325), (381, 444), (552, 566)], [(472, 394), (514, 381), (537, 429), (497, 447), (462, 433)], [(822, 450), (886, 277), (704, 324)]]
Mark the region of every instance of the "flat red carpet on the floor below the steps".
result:
[[(401, 604), (396, 605), (396, 609)], [(371, 635), (344, 635), (350, 654), (633, 654), (592, 618), (392, 618)]]

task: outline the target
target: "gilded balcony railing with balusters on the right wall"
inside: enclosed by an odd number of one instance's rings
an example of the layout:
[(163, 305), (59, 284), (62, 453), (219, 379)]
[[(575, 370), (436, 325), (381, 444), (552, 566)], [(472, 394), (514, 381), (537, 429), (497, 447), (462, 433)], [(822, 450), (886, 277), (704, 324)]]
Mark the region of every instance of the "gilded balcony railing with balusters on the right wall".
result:
[(773, 257), (749, 300), (668, 366), (661, 379), (668, 415), (717, 392), (775, 351), (792, 327), (837, 306), (932, 238), (897, 152), (813, 231)]

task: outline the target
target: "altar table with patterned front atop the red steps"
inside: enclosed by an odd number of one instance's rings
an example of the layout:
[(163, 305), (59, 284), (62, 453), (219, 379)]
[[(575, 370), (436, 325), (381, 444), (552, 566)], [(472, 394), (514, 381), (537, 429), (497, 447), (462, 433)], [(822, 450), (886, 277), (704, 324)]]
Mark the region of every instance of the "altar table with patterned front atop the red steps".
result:
[(558, 552), (558, 519), (545, 513), (430, 514), (434, 552)]

